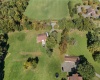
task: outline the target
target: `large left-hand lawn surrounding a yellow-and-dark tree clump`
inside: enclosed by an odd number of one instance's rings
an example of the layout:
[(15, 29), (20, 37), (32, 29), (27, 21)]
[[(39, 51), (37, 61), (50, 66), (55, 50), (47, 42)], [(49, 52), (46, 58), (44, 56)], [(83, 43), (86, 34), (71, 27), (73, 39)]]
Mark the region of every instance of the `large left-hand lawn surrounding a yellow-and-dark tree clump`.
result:
[[(61, 72), (61, 59), (58, 46), (54, 49), (52, 57), (48, 57), (45, 48), (36, 43), (36, 36), (45, 31), (21, 31), (9, 33), (10, 44), (5, 59), (4, 80), (61, 80), (67, 73)], [(60, 34), (59, 34), (60, 35)], [(36, 69), (24, 69), (24, 62), (28, 57), (39, 57)], [(55, 73), (59, 78), (55, 78)]]

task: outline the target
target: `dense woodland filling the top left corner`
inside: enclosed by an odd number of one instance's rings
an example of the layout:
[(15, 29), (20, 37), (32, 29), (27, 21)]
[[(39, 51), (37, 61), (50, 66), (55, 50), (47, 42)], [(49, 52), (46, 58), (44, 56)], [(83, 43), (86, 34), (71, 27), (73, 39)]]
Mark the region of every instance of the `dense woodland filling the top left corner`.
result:
[(11, 0), (0, 4), (0, 30), (9, 32), (30, 27), (32, 22), (24, 16), (29, 0)]

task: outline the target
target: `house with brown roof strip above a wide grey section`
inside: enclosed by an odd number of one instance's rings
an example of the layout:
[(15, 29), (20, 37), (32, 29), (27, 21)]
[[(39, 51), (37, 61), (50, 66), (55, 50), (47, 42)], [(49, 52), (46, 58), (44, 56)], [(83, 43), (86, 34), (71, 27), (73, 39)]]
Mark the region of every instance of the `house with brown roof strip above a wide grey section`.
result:
[(80, 58), (77, 56), (65, 56), (64, 62), (61, 64), (62, 72), (72, 72), (76, 70)]

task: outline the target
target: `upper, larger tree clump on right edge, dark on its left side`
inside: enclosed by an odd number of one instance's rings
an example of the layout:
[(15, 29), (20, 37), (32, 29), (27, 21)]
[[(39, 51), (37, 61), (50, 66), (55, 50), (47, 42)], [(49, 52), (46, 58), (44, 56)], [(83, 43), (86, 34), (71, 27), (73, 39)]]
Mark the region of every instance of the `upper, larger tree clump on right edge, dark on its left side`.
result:
[(87, 48), (90, 52), (100, 51), (100, 28), (94, 29), (87, 34)]

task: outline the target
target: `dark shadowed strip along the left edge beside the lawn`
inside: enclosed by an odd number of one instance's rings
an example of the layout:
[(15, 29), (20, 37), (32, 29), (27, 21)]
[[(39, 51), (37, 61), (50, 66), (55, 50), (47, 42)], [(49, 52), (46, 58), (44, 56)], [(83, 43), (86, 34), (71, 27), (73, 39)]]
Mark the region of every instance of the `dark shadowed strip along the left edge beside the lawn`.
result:
[[(3, 37), (1, 39), (1, 36)], [(8, 41), (8, 34), (0, 34), (0, 80), (3, 80), (4, 78), (4, 67), (5, 67), (5, 57), (7, 55), (7, 51), (9, 49), (9, 44), (7, 44)]]

